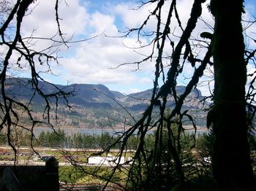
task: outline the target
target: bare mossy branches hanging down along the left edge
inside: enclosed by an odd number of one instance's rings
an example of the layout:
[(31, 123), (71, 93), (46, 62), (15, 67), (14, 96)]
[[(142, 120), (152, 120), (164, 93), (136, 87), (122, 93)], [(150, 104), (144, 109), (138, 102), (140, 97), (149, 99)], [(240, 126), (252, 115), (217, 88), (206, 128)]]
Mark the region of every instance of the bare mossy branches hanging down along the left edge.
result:
[[(48, 125), (50, 128), (53, 128), (53, 125), (50, 123), (50, 109), (55, 108), (56, 117), (57, 109), (60, 100), (64, 100), (64, 103), (68, 105), (67, 97), (72, 94), (72, 90), (65, 92), (64, 90), (59, 89), (56, 85), (48, 83), (52, 86), (52, 93), (45, 93), (40, 82), (46, 82), (42, 78), (42, 72), (51, 72), (51, 65), (53, 63), (58, 64), (58, 47), (71, 42), (71, 39), (64, 39), (63, 34), (61, 34), (61, 28), (59, 25), (59, 15), (58, 7), (59, 1), (55, 1), (56, 9), (56, 23), (59, 28), (60, 40), (57, 38), (40, 38), (48, 40), (50, 46), (44, 50), (36, 50), (31, 44), (32, 40), (39, 37), (34, 36), (23, 36), (21, 33), (22, 22), (25, 15), (29, 14), (29, 9), (35, 1), (32, 0), (23, 0), (16, 1), (15, 4), (12, 4), (11, 1), (1, 1), (1, 123), (0, 129), (4, 131), (7, 135), (8, 144), (15, 151), (18, 145), (15, 145), (15, 129), (23, 128), (31, 133), (31, 143), (35, 139), (34, 136), (34, 127), (39, 124)], [(54, 3), (53, 3), (54, 5)], [(40, 71), (39, 66), (45, 66), (47, 69), (45, 71)], [(17, 70), (28, 69), (31, 79), (29, 82), (23, 82), (22, 79), (12, 78), (12, 72)], [(12, 83), (19, 83), (21, 86), (26, 86), (33, 90), (31, 94), (29, 103), (24, 103), (22, 100), (18, 100), (15, 96), (15, 93), (10, 93), (9, 89), (12, 86)], [(31, 110), (31, 103), (34, 101), (34, 97), (39, 96), (44, 100), (44, 113), (42, 120), (37, 120), (34, 117), (33, 111)], [(20, 120), (27, 118), (30, 127), (25, 126)], [(28, 124), (27, 124), (28, 125)], [(33, 145), (31, 144), (31, 147)]]

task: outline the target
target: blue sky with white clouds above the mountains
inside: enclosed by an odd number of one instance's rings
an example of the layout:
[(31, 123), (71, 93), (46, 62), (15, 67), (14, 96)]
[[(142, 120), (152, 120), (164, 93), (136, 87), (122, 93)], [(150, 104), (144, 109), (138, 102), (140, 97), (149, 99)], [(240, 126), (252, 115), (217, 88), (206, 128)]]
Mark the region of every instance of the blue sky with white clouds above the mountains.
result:
[[(206, 2), (208, 4), (208, 2)], [(178, 13), (182, 26), (185, 27), (192, 6), (191, 0), (178, 0)], [(136, 64), (122, 65), (141, 61), (151, 52), (150, 47), (143, 49), (133, 49), (146, 44), (150, 37), (142, 38), (139, 43), (136, 34), (119, 38), (127, 31), (127, 28), (135, 28), (143, 23), (148, 16), (148, 12), (153, 9), (154, 4), (147, 5), (141, 9), (138, 1), (126, 0), (62, 0), (59, 4), (59, 17), (61, 18), (61, 31), (65, 39), (72, 37), (72, 41), (87, 39), (82, 42), (70, 43), (58, 48), (59, 64), (53, 63), (51, 69), (53, 74), (42, 74), (45, 80), (60, 85), (70, 85), (74, 83), (102, 84), (110, 90), (129, 94), (142, 90), (147, 90), (153, 86), (154, 63), (146, 61), (141, 63), (138, 69)], [(246, 14), (244, 18), (249, 19), (252, 15), (256, 17), (255, 0), (245, 1)], [(37, 0), (30, 9), (31, 14), (26, 15), (22, 23), (23, 36), (52, 37), (58, 32), (55, 20), (53, 0)], [(164, 12), (163, 14), (167, 15)], [(203, 7), (204, 20), (210, 25), (214, 25), (214, 20), (206, 7)], [(151, 31), (156, 27), (153, 19), (147, 23), (146, 30)], [(177, 29), (177, 23), (173, 23), (171, 30), (179, 36), (181, 31)], [(253, 34), (255, 25), (252, 26), (249, 34)], [(211, 31), (205, 23), (198, 21), (198, 26), (192, 34), (198, 36), (202, 31)], [(94, 38), (92, 38), (94, 37)], [(90, 39), (92, 38), (92, 39)], [(176, 39), (176, 41), (178, 38)], [(34, 42), (34, 49), (44, 50), (53, 42), (37, 39)], [(255, 44), (247, 44), (255, 46)], [(200, 50), (198, 50), (200, 51)], [(165, 55), (170, 52), (168, 47)], [(198, 52), (198, 55), (202, 52)], [(167, 64), (167, 63), (166, 63)], [(122, 66), (120, 66), (122, 65)], [(119, 67), (118, 67), (119, 66)], [(166, 70), (168, 67), (166, 67)], [(253, 69), (253, 68), (251, 68)], [(39, 71), (45, 71), (45, 66), (38, 66)], [(179, 85), (185, 85), (191, 77), (194, 69), (186, 66), (184, 74), (178, 79)], [(29, 77), (26, 72), (17, 75)], [(199, 86), (203, 95), (208, 95), (208, 79), (211, 79), (211, 71), (206, 72), (206, 77), (202, 79)], [(210, 83), (213, 87), (213, 82)]]

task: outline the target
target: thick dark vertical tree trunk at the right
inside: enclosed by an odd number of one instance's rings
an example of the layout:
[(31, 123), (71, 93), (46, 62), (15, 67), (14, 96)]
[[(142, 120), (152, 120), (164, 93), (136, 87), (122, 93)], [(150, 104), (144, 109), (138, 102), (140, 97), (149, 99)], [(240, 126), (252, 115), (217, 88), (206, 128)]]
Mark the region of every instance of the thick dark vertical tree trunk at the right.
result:
[(255, 188), (247, 140), (242, 11), (243, 0), (211, 0), (216, 135), (212, 160), (218, 190)]

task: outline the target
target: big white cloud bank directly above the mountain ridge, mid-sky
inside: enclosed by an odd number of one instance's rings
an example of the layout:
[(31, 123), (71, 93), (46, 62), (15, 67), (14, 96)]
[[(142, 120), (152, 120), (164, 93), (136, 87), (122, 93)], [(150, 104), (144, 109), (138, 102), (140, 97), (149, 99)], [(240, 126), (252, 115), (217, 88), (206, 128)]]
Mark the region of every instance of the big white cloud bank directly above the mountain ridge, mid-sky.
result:
[[(108, 36), (119, 36), (113, 15), (105, 15), (94, 12), (90, 16), (89, 27), (94, 35), (105, 31)], [(61, 59), (61, 65), (66, 72), (65, 77), (71, 82), (81, 83), (102, 83), (108, 84), (134, 84), (139, 83), (143, 90), (143, 85), (152, 82), (148, 77), (143, 77), (146, 71), (132, 72), (137, 69), (136, 65), (124, 65), (117, 69), (116, 66), (122, 63), (140, 61), (141, 55), (136, 54), (132, 49), (137, 39), (116, 38), (99, 36), (88, 42), (79, 44), (75, 49), (72, 58)], [(125, 45), (124, 45), (125, 44)], [(154, 65), (151, 65), (153, 70)], [(145, 64), (141, 66), (146, 68)], [(140, 75), (140, 76), (139, 76)]]

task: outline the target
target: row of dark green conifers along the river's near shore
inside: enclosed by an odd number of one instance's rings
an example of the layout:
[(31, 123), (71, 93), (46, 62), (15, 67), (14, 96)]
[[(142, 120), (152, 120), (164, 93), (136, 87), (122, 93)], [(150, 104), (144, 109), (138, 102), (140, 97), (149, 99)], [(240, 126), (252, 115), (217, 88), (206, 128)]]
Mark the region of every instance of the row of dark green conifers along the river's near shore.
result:
[[(148, 133), (145, 137), (145, 142), (148, 149), (154, 149), (154, 136), (156, 131), (153, 133)], [(37, 139), (34, 140), (33, 145), (35, 147), (54, 147), (54, 148), (78, 148), (78, 149), (105, 149), (111, 144), (114, 144), (118, 139), (119, 135), (111, 134), (108, 132), (102, 132), (99, 134), (87, 134), (87, 133), (72, 133), (68, 135), (65, 133), (64, 129), (57, 130), (42, 130)], [(30, 147), (31, 146), (31, 135), (29, 133), (20, 131), (19, 139), (16, 140), (16, 145), (18, 147)], [(198, 133), (196, 139), (194, 140), (194, 135), (192, 133), (186, 133), (182, 136), (182, 147), (187, 151), (190, 150), (192, 145), (195, 145), (197, 150), (203, 149), (208, 139), (208, 133)], [(129, 137), (127, 141), (127, 149), (136, 149), (138, 147), (138, 137), (136, 135)], [(7, 137), (0, 133), (0, 145), (8, 145)], [(163, 134), (163, 146), (167, 149), (167, 131)], [(120, 144), (112, 147), (113, 149), (119, 149)], [(203, 149), (206, 150), (206, 149)]]

